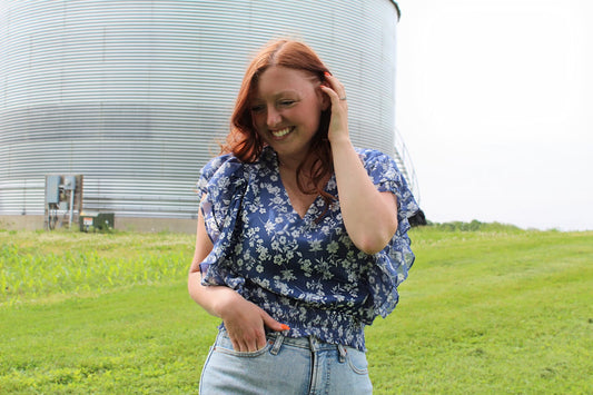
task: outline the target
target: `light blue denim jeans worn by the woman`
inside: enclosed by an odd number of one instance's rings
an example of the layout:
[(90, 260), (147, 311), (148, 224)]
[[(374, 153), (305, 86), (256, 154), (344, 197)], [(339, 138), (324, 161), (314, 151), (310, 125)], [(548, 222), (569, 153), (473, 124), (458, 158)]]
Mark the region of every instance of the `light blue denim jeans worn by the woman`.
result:
[(365, 353), (315, 337), (268, 335), (253, 353), (233, 349), (227, 333), (218, 334), (201, 372), (202, 395), (363, 395), (372, 394)]

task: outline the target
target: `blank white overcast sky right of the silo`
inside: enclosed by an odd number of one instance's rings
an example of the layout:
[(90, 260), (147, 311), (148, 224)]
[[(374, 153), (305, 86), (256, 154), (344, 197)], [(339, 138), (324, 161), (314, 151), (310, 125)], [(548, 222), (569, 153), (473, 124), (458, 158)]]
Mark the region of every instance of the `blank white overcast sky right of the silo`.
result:
[(593, 229), (593, 1), (397, 3), (396, 125), (426, 217)]

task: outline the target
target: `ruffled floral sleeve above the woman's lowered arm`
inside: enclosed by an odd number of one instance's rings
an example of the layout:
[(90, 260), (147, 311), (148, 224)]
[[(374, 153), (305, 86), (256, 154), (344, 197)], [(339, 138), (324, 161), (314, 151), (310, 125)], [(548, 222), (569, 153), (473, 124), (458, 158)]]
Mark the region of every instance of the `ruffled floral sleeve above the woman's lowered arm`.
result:
[(233, 268), (231, 249), (237, 240), (237, 218), (247, 188), (247, 169), (237, 158), (224, 155), (210, 160), (197, 187), (200, 209), (213, 250), (200, 263), (202, 285), (226, 285), (240, 290), (245, 279)]

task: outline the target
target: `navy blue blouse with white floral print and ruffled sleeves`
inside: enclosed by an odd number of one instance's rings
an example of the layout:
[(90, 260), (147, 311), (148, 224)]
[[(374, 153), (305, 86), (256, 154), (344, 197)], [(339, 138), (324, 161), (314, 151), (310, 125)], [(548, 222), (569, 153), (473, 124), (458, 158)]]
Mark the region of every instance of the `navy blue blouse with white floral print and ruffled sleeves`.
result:
[(319, 196), (300, 217), (290, 205), (269, 148), (257, 162), (233, 155), (201, 170), (200, 207), (213, 251), (201, 263), (204, 285), (225, 285), (290, 329), (365, 350), (364, 327), (386, 317), (397, 286), (414, 263), (407, 218), (418, 210), (395, 161), (376, 150), (357, 154), (379, 191), (397, 196), (398, 228), (382, 251), (368, 255), (352, 243), (339, 209), (335, 176), (326, 191), (337, 199), (322, 217)]

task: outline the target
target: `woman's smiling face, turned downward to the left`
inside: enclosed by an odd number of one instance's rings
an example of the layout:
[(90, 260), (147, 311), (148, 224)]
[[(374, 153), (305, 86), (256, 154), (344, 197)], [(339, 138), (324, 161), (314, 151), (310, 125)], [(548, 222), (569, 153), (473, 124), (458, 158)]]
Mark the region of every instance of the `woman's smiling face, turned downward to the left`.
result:
[(315, 76), (286, 67), (269, 67), (259, 76), (251, 119), (280, 160), (300, 162), (305, 158), (327, 107), (319, 85)]

